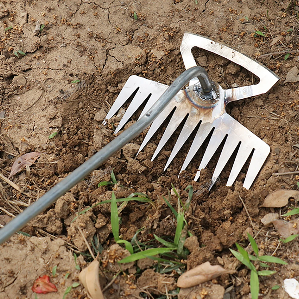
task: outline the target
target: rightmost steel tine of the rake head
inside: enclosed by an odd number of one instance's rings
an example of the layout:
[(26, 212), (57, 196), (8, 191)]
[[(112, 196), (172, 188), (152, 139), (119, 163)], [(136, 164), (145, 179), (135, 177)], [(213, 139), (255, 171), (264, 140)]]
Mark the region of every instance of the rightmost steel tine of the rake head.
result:
[(263, 166), (266, 158), (270, 153), (270, 147), (268, 144), (260, 140), (258, 144), (255, 144), (255, 149), (248, 167), (248, 171), (244, 180), (243, 187), (249, 189)]

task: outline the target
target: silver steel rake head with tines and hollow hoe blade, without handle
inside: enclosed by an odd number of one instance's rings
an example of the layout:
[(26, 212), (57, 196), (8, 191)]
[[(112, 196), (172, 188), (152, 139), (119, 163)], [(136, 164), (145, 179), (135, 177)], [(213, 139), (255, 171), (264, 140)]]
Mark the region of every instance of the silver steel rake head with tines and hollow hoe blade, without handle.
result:
[[(184, 118), (188, 115), (164, 170), (167, 169), (187, 138), (199, 124), (199, 129), (193, 139), (193, 143), (187, 153), (185, 161), (181, 167), (181, 171), (186, 169), (209, 133), (213, 130), (194, 180), (197, 181), (199, 179), (200, 170), (207, 166), (216, 149), (222, 143), (223, 139), (227, 137), (214, 170), (212, 182), (215, 182), (216, 178), (225, 167), (225, 164), (228, 162), (228, 159), (239, 146), (226, 185), (231, 186), (234, 183), (246, 160), (254, 149), (243, 184), (243, 187), (249, 189), (269, 155), (270, 147), (247, 128), (237, 122), (237, 120), (228, 115), (225, 112), (225, 106), (232, 101), (266, 93), (279, 80), (279, 77), (277, 77), (268, 68), (252, 60), (250, 57), (193, 33), (184, 34), (180, 48), (186, 69), (196, 66), (193, 54), (191, 53), (191, 49), (193, 47), (205, 49), (241, 65), (259, 77), (260, 82), (256, 85), (232, 89), (222, 89), (219, 84), (213, 82), (213, 90), (207, 95), (207, 93), (202, 92), (204, 86), (201, 86), (199, 79), (197, 77), (193, 78), (190, 80), (188, 88), (179, 91), (179, 93), (161, 111), (158, 117), (155, 118), (139, 148), (139, 151), (145, 147), (170, 112), (175, 109), (157, 149), (152, 156), (152, 161), (166, 144), (173, 132), (178, 128), (182, 120), (184, 120)], [(107, 120), (112, 118), (123, 104), (135, 94), (128, 109), (123, 115), (123, 118), (120, 120), (117, 129), (115, 130), (115, 134), (120, 131), (142, 103), (148, 99), (148, 102), (141, 112), (139, 117), (140, 119), (158, 100), (167, 87), (167, 85), (148, 80), (143, 77), (130, 76), (106, 116)], [(106, 124), (106, 121), (103, 123)]]

